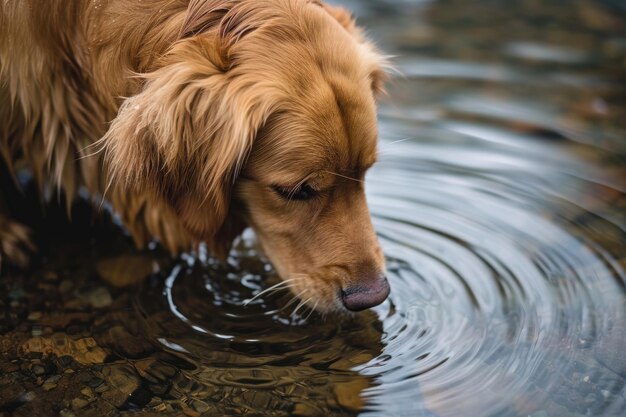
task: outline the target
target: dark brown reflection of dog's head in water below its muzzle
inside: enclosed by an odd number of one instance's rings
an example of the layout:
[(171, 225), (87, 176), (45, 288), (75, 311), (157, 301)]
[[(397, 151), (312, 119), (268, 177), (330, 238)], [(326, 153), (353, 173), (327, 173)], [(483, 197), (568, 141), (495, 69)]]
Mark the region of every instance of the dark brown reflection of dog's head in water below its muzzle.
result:
[(225, 412), (360, 410), (372, 379), (354, 368), (382, 353), (378, 317), (327, 319), (298, 308), (286, 291), (254, 298), (278, 277), (251, 237), (234, 253), (227, 265), (189, 258), (165, 281), (154, 276), (135, 302), (145, 338), (189, 362), (183, 374), (194, 383), (192, 395), (220, 392)]

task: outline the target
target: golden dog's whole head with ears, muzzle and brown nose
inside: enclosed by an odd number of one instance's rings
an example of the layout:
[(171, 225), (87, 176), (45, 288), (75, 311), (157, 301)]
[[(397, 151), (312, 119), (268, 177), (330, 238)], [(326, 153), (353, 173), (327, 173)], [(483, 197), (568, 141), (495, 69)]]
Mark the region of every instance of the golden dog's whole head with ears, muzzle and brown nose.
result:
[(192, 0), (179, 41), (104, 138), (111, 176), (217, 253), (252, 226), (311, 307), (377, 305), (389, 286), (363, 180), (381, 65), (343, 9)]

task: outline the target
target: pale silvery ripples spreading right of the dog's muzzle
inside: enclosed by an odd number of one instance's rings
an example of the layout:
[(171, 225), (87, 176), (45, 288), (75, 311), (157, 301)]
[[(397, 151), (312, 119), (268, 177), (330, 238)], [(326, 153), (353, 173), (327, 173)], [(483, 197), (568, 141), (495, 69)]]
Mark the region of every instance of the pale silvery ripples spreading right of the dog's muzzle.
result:
[(360, 368), (379, 383), (372, 412), (619, 415), (625, 369), (604, 365), (624, 342), (624, 251), (589, 229), (624, 232), (572, 198), (606, 185), (566, 156), (479, 170), (428, 140), (389, 146), (370, 181), (395, 307), (381, 315), (387, 355)]

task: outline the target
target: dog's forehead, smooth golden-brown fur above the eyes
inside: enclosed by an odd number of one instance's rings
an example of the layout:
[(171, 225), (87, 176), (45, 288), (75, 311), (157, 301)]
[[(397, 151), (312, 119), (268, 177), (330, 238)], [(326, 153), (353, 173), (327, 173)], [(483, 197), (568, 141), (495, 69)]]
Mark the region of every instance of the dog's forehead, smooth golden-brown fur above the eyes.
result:
[(294, 100), (268, 122), (250, 173), (279, 184), (297, 184), (323, 172), (361, 176), (376, 161), (378, 141), (373, 99), (362, 88), (327, 83), (308, 91), (306, 100)]

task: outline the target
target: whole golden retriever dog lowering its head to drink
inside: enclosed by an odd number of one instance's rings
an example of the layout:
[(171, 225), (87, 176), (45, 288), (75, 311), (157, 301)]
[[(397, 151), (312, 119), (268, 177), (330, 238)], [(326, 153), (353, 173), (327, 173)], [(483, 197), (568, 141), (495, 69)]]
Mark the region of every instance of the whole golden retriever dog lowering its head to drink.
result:
[[(250, 226), (307, 305), (358, 311), (389, 293), (363, 182), (384, 65), (315, 0), (1, 0), (0, 159), (138, 246), (223, 257)], [(0, 250), (28, 245), (0, 194)]]

